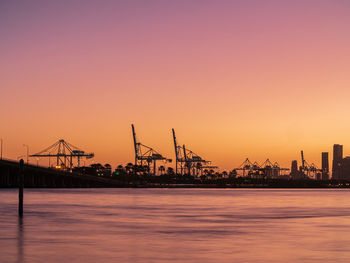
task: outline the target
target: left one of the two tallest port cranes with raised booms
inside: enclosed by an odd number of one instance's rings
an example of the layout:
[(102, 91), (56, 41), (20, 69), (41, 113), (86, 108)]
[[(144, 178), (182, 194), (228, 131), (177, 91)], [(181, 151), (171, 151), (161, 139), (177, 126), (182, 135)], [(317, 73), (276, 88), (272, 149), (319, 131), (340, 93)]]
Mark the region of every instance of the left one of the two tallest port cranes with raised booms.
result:
[(153, 148), (146, 146), (137, 141), (136, 132), (134, 124), (131, 124), (132, 136), (134, 140), (134, 149), (135, 149), (135, 166), (142, 167), (144, 164), (147, 165), (148, 171), (151, 171), (153, 164), (153, 175), (156, 175), (156, 163), (157, 161), (171, 162), (171, 159), (163, 157), (160, 153), (155, 151)]

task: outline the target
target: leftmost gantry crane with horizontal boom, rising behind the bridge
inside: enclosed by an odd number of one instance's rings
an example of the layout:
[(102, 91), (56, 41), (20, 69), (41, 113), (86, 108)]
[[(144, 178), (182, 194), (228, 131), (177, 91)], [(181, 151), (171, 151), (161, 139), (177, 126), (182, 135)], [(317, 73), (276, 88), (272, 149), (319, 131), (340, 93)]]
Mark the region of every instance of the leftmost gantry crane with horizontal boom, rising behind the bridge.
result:
[(94, 157), (93, 153), (85, 153), (78, 147), (61, 139), (47, 147), (46, 149), (30, 155), (30, 157), (51, 157), (56, 159), (56, 169), (71, 170), (73, 168), (73, 159), (77, 159), (77, 166), (80, 167), (80, 159), (90, 159)]

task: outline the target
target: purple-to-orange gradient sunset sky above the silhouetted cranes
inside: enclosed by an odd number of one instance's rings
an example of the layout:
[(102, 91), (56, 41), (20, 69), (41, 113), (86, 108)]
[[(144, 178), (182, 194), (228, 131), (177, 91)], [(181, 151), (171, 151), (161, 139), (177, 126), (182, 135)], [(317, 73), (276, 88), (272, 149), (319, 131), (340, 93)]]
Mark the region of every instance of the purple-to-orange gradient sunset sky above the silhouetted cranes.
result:
[(131, 123), (170, 158), (175, 128), (222, 169), (350, 154), (349, 14), (345, 0), (1, 0), (4, 155), (64, 138), (115, 167), (133, 161)]

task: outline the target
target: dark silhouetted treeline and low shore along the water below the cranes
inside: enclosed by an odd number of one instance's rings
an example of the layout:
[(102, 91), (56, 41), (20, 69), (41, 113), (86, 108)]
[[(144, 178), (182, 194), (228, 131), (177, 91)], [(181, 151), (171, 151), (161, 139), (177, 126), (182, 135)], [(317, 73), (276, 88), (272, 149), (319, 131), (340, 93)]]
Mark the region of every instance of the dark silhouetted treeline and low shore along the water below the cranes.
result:
[(281, 178), (254, 178), (238, 177), (235, 170), (231, 172), (215, 172), (212, 169), (203, 170), (200, 176), (175, 174), (172, 167), (159, 166), (158, 174), (150, 173), (148, 166), (128, 163), (118, 165), (112, 172), (109, 164), (93, 164), (90, 167), (75, 168), (75, 172), (95, 176), (108, 177), (124, 182), (131, 187), (349, 187), (345, 181), (320, 181), (312, 179), (293, 180), (290, 177)]

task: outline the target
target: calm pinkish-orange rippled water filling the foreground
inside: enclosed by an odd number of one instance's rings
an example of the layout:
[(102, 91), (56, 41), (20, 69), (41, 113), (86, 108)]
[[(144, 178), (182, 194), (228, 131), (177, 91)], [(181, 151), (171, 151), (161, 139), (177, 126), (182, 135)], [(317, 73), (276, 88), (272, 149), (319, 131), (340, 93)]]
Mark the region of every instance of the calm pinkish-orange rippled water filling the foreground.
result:
[(349, 262), (350, 191), (0, 190), (0, 262)]

